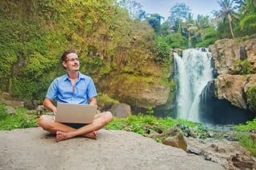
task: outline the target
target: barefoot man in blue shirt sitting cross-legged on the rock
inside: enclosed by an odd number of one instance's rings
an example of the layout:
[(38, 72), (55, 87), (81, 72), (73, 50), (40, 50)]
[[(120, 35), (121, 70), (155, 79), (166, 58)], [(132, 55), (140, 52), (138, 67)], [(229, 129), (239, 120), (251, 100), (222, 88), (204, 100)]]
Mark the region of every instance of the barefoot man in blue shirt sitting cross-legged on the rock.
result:
[[(55, 98), (58, 102), (97, 105), (94, 81), (91, 77), (79, 72), (79, 58), (74, 50), (68, 50), (62, 54), (62, 66), (66, 69), (66, 74), (56, 78), (50, 84), (43, 105), (54, 115), (58, 114), (53, 104)], [(110, 112), (98, 113), (91, 124), (81, 125), (59, 123), (54, 121), (54, 117), (42, 115), (39, 117), (38, 125), (48, 132), (56, 133), (56, 141), (67, 140), (75, 136), (85, 136), (96, 140), (96, 131), (112, 119)]]

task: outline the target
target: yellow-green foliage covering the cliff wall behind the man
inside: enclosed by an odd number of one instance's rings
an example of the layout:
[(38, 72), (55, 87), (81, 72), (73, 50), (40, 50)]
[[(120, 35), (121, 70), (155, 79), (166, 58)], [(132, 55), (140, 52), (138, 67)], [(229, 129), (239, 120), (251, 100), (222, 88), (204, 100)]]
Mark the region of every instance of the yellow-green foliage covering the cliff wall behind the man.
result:
[(66, 49), (77, 50), (82, 73), (96, 81), (122, 68), (148, 75), (147, 62), (158, 56), (150, 25), (130, 20), (112, 0), (6, 3), (0, 3), (0, 89), (15, 97), (42, 101), (50, 81), (64, 73)]

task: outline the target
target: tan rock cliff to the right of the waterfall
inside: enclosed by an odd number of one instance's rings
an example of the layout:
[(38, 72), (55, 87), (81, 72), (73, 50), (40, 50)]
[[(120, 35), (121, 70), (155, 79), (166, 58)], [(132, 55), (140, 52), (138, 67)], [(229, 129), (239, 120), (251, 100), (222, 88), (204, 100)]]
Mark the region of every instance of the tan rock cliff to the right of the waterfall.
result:
[(218, 73), (214, 79), (215, 97), (252, 111), (247, 101), (247, 90), (256, 85), (256, 38), (222, 39), (210, 45), (209, 49)]

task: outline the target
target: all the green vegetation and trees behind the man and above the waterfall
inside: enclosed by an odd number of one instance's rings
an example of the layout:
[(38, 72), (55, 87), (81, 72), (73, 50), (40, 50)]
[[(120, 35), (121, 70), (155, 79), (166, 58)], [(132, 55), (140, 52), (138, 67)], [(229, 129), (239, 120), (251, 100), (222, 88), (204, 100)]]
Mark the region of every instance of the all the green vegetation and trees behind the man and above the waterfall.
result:
[[(109, 84), (151, 83), (160, 77), (154, 83), (170, 85), (166, 76), (171, 70), (170, 49), (254, 37), (254, 1), (218, 3), (220, 9), (212, 17), (193, 16), (189, 6), (177, 3), (164, 20), (146, 13), (134, 0), (1, 1), (0, 90), (38, 105), (50, 81), (64, 73), (56, 65), (65, 49), (77, 49), (82, 72), (94, 76), (99, 91), (116, 100), (115, 93), (104, 92)], [(162, 71), (156, 73), (148, 65)]]

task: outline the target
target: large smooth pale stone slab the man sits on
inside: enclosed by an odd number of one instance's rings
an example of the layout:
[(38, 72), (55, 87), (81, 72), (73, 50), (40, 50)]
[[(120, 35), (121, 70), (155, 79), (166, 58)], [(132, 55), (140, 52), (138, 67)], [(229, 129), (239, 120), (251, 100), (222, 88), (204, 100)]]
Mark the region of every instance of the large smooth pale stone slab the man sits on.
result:
[(42, 128), (0, 131), (0, 169), (224, 169), (134, 132), (99, 130), (98, 140), (55, 142)]

